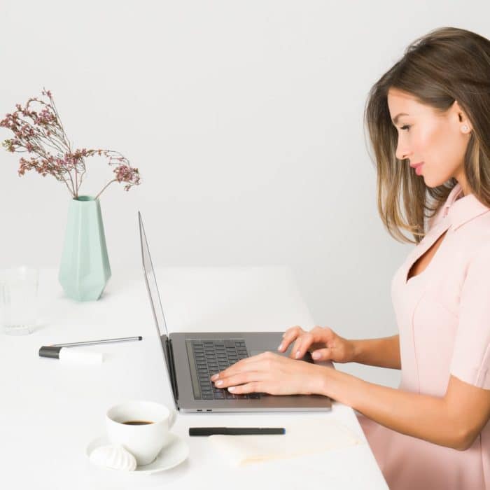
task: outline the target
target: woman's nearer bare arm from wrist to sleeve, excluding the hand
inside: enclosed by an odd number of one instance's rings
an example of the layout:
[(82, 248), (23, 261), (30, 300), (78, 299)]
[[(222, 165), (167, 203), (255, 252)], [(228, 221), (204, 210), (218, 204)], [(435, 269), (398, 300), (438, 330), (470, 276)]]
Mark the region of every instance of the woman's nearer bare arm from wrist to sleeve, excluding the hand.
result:
[(461, 451), (472, 445), (490, 419), (490, 390), (454, 376), (444, 397), (436, 397), (379, 386), (325, 368), (321, 392), (382, 426)]

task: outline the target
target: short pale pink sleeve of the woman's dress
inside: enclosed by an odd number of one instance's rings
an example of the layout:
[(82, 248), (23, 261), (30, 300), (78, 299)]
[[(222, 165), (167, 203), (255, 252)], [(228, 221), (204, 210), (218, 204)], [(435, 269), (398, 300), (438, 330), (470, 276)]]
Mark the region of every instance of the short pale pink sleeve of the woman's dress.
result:
[(450, 372), (468, 384), (490, 389), (490, 243), (480, 247), (468, 265)]

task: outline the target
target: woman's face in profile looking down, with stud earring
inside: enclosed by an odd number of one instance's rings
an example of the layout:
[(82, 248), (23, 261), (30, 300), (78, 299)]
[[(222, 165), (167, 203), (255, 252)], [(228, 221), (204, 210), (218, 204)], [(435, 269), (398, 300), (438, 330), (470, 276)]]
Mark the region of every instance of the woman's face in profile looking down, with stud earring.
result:
[[(398, 131), (396, 158), (406, 158), (411, 165), (423, 162), (418, 172), (426, 186), (441, 186), (454, 177), (466, 195), (463, 162), (472, 126), (458, 102), (440, 115), (432, 107), (416, 102), (412, 95), (391, 88), (388, 90), (388, 109)], [(400, 113), (407, 116), (398, 116)], [(466, 132), (463, 125), (468, 127)]]

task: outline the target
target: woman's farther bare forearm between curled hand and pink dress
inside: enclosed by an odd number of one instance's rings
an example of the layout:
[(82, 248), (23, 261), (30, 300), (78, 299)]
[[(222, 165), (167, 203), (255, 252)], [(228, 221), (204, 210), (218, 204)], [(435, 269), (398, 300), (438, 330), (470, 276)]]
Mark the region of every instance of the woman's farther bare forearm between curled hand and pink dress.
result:
[(354, 346), (353, 362), (370, 366), (401, 369), (400, 336), (382, 339), (351, 340)]

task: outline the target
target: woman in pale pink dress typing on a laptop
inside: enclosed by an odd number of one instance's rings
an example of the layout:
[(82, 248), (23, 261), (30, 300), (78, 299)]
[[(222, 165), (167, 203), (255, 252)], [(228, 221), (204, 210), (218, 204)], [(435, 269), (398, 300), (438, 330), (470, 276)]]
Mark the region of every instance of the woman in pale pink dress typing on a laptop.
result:
[[(381, 219), (416, 244), (391, 282), (399, 334), (297, 326), (279, 346), (294, 342), (291, 358), (262, 353), (213, 381), (353, 407), (391, 489), (490, 489), (490, 41), (450, 27), (417, 39), (372, 87), (365, 121)], [(295, 360), (306, 351), (401, 369), (400, 387)]]

